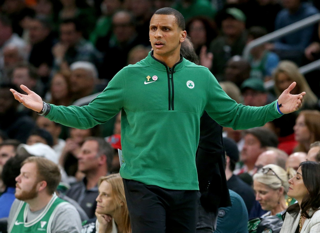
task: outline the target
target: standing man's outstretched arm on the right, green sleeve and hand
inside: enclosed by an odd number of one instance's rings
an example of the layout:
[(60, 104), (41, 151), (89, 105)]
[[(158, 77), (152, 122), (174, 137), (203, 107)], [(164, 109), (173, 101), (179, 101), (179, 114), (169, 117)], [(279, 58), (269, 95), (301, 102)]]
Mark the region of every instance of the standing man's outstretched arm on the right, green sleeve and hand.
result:
[[(262, 107), (251, 107), (237, 104), (222, 90), (217, 80), (209, 79), (208, 101), (205, 110), (218, 124), (233, 129), (250, 129), (259, 127), (280, 117), (281, 113), (290, 113), (300, 108), (304, 92), (298, 95), (290, 94), (295, 87), (293, 83), (284, 91), (277, 101)], [(277, 102), (281, 104), (277, 108)]]

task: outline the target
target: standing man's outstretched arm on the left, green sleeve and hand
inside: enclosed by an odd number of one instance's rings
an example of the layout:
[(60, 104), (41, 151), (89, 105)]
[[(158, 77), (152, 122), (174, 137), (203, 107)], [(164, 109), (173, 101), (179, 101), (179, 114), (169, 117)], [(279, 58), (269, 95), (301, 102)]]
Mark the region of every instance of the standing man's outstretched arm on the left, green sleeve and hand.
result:
[(125, 82), (123, 72), (109, 82), (106, 89), (88, 105), (55, 106), (44, 104), (41, 97), (21, 85), (27, 94), (21, 94), (11, 89), (14, 97), (24, 106), (43, 114), (49, 120), (78, 129), (89, 129), (93, 126), (107, 122), (124, 107)]

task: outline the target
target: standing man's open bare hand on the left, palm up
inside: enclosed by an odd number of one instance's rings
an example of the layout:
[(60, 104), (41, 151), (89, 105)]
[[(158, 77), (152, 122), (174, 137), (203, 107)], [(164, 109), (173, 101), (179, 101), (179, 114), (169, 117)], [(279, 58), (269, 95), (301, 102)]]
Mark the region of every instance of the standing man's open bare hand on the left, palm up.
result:
[(42, 98), (40, 95), (34, 93), (31, 91), (28, 87), (21, 85), (20, 88), (27, 93), (21, 94), (17, 92), (16, 90), (10, 89), (10, 91), (13, 93), (14, 98), (22, 103), (24, 106), (26, 106), (28, 109), (32, 109), (36, 112), (41, 112), (43, 107)]

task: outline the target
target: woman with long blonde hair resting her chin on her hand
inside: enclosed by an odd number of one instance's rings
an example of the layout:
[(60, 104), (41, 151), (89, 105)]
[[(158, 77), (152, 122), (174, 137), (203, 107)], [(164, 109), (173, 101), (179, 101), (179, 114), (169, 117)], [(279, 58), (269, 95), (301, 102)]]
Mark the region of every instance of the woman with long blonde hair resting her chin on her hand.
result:
[(96, 199), (96, 232), (131, 233), (130, 217), (119, 173), (100, 177)]

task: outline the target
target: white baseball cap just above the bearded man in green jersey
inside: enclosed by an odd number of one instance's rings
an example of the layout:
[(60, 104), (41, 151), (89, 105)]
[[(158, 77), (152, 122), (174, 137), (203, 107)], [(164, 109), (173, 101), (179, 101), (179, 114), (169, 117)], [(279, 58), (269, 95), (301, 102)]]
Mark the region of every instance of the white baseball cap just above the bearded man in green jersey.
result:
[(51, 147), (41, 142), (33, 145), (20, 144), (17, 148), (17, 154), (44, 157), (56, 164), (59, 161), (58, 154)]

